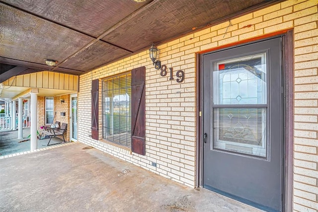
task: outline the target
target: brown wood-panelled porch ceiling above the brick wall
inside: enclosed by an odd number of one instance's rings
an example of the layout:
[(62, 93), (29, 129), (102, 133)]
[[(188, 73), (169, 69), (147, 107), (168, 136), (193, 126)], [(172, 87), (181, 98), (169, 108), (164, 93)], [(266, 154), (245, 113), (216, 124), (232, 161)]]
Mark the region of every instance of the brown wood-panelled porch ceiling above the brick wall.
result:
[[(0, 82), (75, 75), (279, 0), (0, 0)], [(44, 59), (58, 61), (56, 67)], [(18, 67), (18, 69), (17, 69)]]

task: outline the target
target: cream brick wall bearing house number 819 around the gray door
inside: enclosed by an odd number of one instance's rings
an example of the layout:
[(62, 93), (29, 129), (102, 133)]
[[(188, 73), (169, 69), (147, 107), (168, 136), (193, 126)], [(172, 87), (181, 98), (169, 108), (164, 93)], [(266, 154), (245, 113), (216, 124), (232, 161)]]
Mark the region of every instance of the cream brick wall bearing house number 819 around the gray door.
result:
[[(196, 179), (195, 53), (294, 30), (294, 211), (318, 211), (318, 0), (287, 0), (159, 45), (162, 65), (183, 70), (182, 83), (160, 76), (148, 51), (80, 76), (79, 141), (194, 187)], [(146, 67), (146, 155), (90, 136), (91, 80)], [(100, 100), (101, 104), (101, 100)], [(100, 110), (101, 111), (101, 110)], [(101, 130), (101, 114), (99, 120)], [(158, 165), (154, 167), (152, 162)]]

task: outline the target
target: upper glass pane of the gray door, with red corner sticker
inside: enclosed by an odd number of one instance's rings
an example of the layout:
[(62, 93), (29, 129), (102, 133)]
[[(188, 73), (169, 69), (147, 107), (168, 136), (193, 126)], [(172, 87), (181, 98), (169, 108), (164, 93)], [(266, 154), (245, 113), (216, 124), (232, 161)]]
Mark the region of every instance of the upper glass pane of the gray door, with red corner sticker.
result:
[(214, 63), (213, 103), (266, 104), (266, 53)]

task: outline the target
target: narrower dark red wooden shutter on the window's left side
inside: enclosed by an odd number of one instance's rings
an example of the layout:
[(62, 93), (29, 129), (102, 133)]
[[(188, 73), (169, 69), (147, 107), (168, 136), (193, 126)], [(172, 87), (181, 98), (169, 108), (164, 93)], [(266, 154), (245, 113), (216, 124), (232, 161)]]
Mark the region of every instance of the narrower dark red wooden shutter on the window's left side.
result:
[(98, 79), (91, 81), (91, 138), (98, 140)]

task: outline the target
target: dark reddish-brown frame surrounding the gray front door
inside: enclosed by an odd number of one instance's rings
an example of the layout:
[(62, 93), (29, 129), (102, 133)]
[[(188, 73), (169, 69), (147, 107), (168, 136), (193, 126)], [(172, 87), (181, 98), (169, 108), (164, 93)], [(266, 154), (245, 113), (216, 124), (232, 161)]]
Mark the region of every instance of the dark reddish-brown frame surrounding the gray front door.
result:
[(288, 212), (293, 209), (293, 137), (294, 137), (294, 44), (293, 30), (284, 30), (273, 34), (264, 35), (261, 37), (233, 43), (226, 46), (220, 46), (214, 49), (209, 49), (196, 54), (196, 128), (197, 128), (197, 157), (196, 157), (196, 187), (203, 187), (203, 55), (213, 53), (219, 50), (231, 49), (242, 45), (257, 43), (262, 40), (268, 40), (275, 37), (282, 38), (282, 84), (283, 84), (283, 167), (282, 167), (282, 186), (283, 186), (283, 211)]

